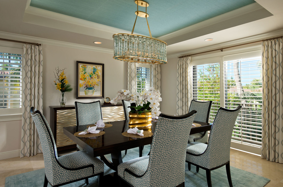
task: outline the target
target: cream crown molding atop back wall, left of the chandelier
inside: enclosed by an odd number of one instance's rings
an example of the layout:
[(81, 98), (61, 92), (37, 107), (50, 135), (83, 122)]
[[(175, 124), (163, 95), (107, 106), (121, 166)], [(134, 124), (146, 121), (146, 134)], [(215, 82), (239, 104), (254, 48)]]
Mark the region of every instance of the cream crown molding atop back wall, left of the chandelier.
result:
[(10, 40), (23, 40), (23, 41), (27, 41), (27, 42), (35, 42), (35, 43), (41, 43), (41, 44), (49, 44), (49, 45), (56, 45), (56, 46), (62, 46), (62, 47), (69, 47), (69, 48), (76, 48), (76, 49), (83, 49), (83, 50), (90, 50), (90, 51), (95, 51), (95, 52), (103, 52), (103, 53), (113, 54), (113, 49), (106, 49), (106, 48), (99, 48), (99, 47), (94, 47), (94, 46), (74, 44), (74, 43), (70, 43), (70, 42), (62, 42), (62, 41), (57, 41), (57, 40), (38, 38), (38, 37), (33, 37), (33, 36), (21, 35), (21, 34), (13, 34), (13, 33), (9, 33), (9, 32), (1, 32), (0, 31), (0, 37), (5, 38), (5, 39), (10, 39)]

